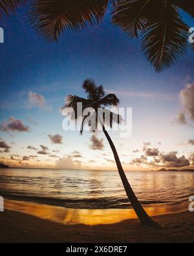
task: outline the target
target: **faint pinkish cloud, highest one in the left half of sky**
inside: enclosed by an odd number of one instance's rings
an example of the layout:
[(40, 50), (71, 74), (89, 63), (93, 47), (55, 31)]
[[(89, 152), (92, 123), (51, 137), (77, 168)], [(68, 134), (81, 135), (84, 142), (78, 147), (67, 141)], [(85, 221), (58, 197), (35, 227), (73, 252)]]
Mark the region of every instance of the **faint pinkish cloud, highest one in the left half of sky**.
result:
[(41, 94), (33, 93), (32, 91), (29, 91), (28, 93), (28, 107), (50, 110), (47, 106), (45, 97)]

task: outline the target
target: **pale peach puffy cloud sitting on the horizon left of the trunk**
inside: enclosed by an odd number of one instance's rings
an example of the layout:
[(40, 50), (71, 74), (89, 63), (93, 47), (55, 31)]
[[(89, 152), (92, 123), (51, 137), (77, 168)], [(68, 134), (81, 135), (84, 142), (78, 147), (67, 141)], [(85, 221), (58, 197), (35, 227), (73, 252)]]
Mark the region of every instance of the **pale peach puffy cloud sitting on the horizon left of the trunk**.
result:
[(65, 156), (58, 160), (56, 163), (56, 168), (59, 169), (81, 169), (82, 162), (81, 161), (74, 161), (72, 156)]

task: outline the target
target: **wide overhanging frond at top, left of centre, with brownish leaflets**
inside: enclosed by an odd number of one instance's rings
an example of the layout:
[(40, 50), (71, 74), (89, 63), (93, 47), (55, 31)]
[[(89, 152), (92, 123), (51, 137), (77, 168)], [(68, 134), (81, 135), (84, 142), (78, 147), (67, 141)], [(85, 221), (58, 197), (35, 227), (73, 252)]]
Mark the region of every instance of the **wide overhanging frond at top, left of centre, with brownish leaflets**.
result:
[(36, 0), (30, 19), (47, 40), (57, 41), (66, 31), (78, 31), (102, 21), (109, 0)]

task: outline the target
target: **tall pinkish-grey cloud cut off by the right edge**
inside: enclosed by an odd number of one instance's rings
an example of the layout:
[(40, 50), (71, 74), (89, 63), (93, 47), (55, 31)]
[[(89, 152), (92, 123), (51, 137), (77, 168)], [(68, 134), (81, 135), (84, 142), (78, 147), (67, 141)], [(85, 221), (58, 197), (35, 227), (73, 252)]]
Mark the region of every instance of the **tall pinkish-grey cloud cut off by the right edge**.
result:
[(184, 107), (184, 112), (194, 121), (194, 84), (188, 84), (180, 91), (180, 100)]

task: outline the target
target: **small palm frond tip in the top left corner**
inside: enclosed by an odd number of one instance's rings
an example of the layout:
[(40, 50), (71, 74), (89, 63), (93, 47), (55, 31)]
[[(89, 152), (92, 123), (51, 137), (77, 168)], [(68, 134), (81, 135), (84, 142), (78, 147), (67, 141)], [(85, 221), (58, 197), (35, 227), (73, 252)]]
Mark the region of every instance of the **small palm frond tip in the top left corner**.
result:
[(0, 18), (3, 17), (4, 14), (10, 16), (18, 6), (26, 2), (26, 0), (0, 0)]

